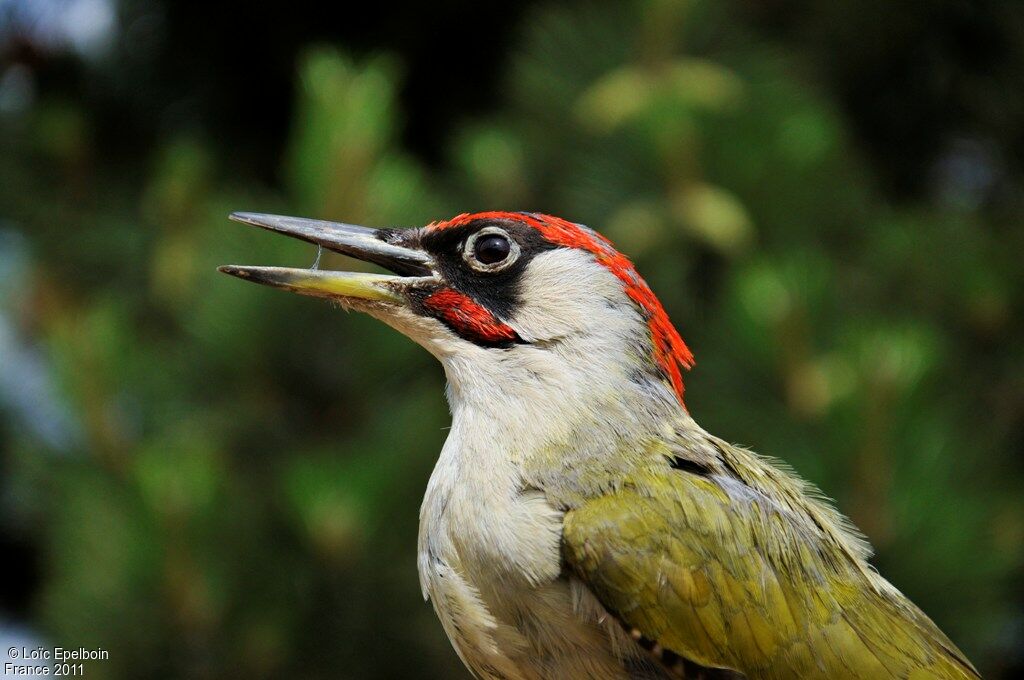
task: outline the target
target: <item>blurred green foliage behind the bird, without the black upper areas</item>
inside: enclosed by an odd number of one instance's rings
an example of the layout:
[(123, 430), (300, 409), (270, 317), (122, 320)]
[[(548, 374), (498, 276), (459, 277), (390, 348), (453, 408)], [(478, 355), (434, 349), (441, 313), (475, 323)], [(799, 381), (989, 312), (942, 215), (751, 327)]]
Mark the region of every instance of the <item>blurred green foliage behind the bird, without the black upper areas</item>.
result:
[(215, 267), (313, 257), (232, 210), (529, 209), (633, 256), (697, 355), (697, 420), (818, 483), (986, 677), (1009, 673), (1024, 182), (888, 200), (807, 52), (752, 39), (728, 6), (539, 7), (501, 107), (430, 166), (400, 136), (400, 60), (324, 45), (296, 66), (276, 186), (186, 132), (106, 163), (88, 112), (45, 92), (2, 119), (0, 218), (24, 241), (3, 242), (0, 318), (68, 414), (47, 439), (0, 411), (5, 528), (43, 545), (38, 630), (109, 648), (94, 678), (461, 677), (414, 559), (439, 368)]

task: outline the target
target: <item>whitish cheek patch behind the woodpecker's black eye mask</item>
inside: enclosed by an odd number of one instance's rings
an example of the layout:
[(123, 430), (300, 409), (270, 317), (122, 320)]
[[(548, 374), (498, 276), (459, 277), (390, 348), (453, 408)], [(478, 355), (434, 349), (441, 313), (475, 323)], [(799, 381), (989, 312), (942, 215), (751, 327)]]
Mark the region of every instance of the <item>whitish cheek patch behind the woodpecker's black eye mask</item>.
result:
[(593, 255), (560, 248), (541, 253), (527, 265), (515, 315), (507, 320), (531, 341), (580, 334), (621, 333), (636, 323), (623, 283)]

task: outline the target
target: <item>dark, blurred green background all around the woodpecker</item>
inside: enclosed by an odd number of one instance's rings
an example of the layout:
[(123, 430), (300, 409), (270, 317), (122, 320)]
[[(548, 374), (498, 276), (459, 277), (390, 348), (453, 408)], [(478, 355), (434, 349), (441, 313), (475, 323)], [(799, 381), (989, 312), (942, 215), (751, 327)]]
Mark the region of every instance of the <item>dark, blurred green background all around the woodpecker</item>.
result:
[(232, 210), (525, 209), (1024, 670), (1024, 5), (123, 0), (76, 49), (30, 11), (69, 4), (0, 2), (0, 624), (97, 679), (466, 677), (415, 569), (439, 367), (215, 267), (312, 261)]

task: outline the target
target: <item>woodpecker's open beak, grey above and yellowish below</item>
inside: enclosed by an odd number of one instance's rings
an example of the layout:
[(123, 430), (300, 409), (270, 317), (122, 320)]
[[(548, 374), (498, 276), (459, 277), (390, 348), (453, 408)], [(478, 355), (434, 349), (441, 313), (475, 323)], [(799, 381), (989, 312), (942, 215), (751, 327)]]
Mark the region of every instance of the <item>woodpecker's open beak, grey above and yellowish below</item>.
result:
[(239, 279), (316, 297), (350, 302), (403, 303), (411, 284), (432, 279), (430, 256), (385, 239), (394, 231), (318, 219), (232, 213), (230, 219), (295, 237), (336, 253), (373, 262), (398, 275), (226, 264), (220, 271)]

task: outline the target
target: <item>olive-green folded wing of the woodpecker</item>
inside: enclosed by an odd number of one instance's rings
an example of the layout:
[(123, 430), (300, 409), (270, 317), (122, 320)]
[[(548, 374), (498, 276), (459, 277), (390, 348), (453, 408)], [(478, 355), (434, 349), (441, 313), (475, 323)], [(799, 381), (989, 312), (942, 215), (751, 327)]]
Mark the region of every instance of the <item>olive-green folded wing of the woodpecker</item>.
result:
[(979, 677), (846, 549), (855, 539), (833, 517), (811, 499), (666, 465), (570, 510), (563, 553), (627, 628), (701, 666), (780, 680)]

